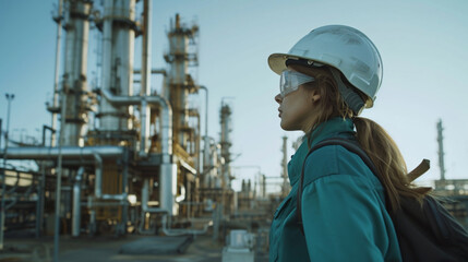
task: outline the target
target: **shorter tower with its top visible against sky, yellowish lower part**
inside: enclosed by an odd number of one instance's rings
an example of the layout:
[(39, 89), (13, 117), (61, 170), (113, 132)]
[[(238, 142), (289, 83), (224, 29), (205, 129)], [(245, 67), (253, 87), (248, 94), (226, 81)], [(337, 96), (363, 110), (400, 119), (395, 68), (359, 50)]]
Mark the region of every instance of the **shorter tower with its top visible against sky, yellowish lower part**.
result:
[[(193, 76), (189, 73), (190, 67), (199, 63), (196, 44), (199, 26), (188, 26), (181, 22), (179, 14), (170, 22), (167, 33), (169, 50), (164, 58), (169, 64), (169, 72), (163, 88), (163, 96), (172, 107), (172, 133), (175, 162), (180, 163), (183, 169), (179, 170), (181, 190), (190, 192), (199, 184), (195, 176), (200, 172), (200, 114), (197, 108), (190, 108), (189, 96), (199, 92)], [(190, 119), (196, 119), (196, 127), (189, 126)], [(191, 196), (190, 196), (191, 198)], [(199, 200), (199, 195), (188, 199), (188, 202)], [(183, 206), (184, 212), (192, 213), (190, 204)], [(191, 216), (192, 214), (188, 214)]]

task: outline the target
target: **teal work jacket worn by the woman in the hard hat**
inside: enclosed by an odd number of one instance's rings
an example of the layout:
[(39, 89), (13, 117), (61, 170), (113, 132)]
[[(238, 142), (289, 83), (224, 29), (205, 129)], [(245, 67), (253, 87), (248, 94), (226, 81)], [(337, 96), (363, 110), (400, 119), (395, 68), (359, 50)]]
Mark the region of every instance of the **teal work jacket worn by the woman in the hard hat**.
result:
[[(334, 118), (312, 133), (311, 146), (332, 136), (355, 135), (350, 119)], [(319, 148), (304, 167), (302, 222), (296, 203), (307, 140), (288, 164), (291, 191), (276, 210), (269, 261), (401, 261), (384, 189), (361, 158), (339, 145)]]

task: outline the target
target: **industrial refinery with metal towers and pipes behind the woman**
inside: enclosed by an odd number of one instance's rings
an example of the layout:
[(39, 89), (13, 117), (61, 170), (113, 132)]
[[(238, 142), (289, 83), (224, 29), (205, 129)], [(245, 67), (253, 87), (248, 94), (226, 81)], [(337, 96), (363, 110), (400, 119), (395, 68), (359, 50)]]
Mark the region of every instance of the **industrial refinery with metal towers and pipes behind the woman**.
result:
[[(194, 73), (203, 28), (183, 13), (155, 25), (152, 4), (57, 0), (52, 95), (34, 109), (51, 118), (40, 139), (13, 139), (14, 94), (1, 104), (0, 261), (268, 261), (273, 214), (290, 191), (291, 141), (277, 138), (278, 174), (236, 165), (233, 102), (209, 110), (211, 87)], [(164, 64), (152, 62), (152, 26), (166, 26), (167, 38), (157, 39), (168, 46), (157, 55)], [(468, 227), (468, 180), (445, 178), (442, 132), (441, 121), (434, 188), (456, 200), (447, 207)], [(256, 172), (239, 179), (239, 169)]]

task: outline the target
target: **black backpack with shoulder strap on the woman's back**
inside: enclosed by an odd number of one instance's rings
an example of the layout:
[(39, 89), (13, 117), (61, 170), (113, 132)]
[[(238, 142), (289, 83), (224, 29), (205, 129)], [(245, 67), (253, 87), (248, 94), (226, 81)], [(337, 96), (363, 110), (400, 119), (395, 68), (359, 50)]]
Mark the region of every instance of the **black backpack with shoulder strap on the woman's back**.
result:
[[(360, 147), (356, 140), (332, 138), (319, 142), (305, 156), (305, 160), (312, 152), (326, 145), (340, 145), (351, 153), (357, 154), (375, 175), (377, 174), (372, 160)], [(305, 160), (302, 165), (302, 174), (297, 196), (298, 226), (303, 233), (301, 199), (304, 179)], [(416, 178), (429, 169), (417, 168), (409, 175)], [(422, 169), (422, 170), (421, 170)], [(379, 177), (377, 177), (379, 178)], [(411, 178), (410, 178), (411, 179)], [(412, 180), (412, 179), (411, 179)], [(388, 196), (385, 195), (387, 200)], [(420, 203), (410, 198), (400, 199), (400, 209), (392, 211), (386, 202), (386, 210), (392, 217), (403, 261), (468, 261), (468, 233), (458, 224), (447, 210), (433, 196), (425, 195), (422, 209)]]

